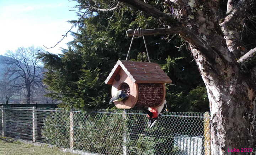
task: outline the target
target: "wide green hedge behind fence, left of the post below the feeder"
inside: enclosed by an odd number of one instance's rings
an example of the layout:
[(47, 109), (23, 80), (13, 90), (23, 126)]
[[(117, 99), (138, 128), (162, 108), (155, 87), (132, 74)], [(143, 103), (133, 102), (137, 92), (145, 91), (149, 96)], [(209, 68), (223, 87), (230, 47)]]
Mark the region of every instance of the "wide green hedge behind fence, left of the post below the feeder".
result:
[[(42, 135), (51, 145), (70, 148), (70, 117), (53, 113), (45, 119)], [(74, 112), (74, 149), (122, 154), (124, 124), (122, 113)]]

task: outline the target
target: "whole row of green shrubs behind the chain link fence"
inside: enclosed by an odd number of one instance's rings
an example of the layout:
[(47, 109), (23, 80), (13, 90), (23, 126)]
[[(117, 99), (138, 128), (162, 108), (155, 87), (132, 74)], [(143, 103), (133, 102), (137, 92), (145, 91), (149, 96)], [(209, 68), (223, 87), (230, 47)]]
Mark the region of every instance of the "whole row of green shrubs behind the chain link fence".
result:
[[(158, 123), (149, 129), (147, 123), (145, 115), (128, 114), (124, 118), (122, 110), (73, 112), (73, 148), (121, 155), (126, 145), (130, 155), (174, 153), (169, 128)], [(42, 135), (50, 139), (48, 144), (70, 148), (69, 112), (52, 112), (44, 121)]]

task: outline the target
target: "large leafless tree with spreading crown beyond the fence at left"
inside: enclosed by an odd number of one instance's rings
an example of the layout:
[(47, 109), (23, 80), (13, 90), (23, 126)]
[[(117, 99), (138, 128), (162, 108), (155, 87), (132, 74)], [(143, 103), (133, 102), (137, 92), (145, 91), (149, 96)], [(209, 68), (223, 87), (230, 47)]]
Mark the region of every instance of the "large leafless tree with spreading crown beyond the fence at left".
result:
[(43, 52), (43, 48), (32, 46), (20, 47), (15, 52), (9, 50), (5, 54), (4, 63), (8, 66), (6, 75), (14, 82), (16, 90), (27, 91), (27, 104), (31, 102), (32, 89), (43, 87), (43, 64), (37, 57), (39, 52)]

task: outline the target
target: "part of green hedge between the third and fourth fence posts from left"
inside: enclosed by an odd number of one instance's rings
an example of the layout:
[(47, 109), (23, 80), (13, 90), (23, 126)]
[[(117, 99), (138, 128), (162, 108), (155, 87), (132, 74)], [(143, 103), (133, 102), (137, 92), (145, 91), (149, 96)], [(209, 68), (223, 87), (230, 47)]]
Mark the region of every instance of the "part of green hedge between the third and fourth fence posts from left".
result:
[(122, 154), (122, 113), (78, 113), (75, 115), (74, 147), (99, 154)]

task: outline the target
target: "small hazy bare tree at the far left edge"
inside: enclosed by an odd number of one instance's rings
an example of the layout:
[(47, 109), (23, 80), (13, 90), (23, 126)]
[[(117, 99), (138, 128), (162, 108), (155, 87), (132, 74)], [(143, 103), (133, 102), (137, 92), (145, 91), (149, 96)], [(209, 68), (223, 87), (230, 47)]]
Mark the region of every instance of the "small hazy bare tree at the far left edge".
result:
[(8, 80), (6, 77), (0, 80), (0, 96), (5, 100), (5, 104), (9, 103), (15, 91), (12, 81)]

